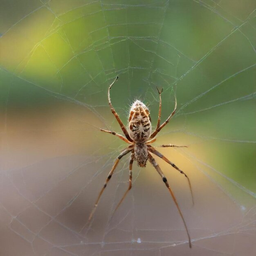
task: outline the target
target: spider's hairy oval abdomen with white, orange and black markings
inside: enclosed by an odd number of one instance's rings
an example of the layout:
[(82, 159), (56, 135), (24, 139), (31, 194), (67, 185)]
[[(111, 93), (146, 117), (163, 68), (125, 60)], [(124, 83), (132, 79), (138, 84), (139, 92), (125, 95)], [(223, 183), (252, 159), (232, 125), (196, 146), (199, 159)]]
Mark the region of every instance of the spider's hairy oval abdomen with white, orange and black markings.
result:
[(134, 141), (145, 141), (151, 133), (148, 108), (137, 100), (132, 104), (129, 117), (129, 134)]

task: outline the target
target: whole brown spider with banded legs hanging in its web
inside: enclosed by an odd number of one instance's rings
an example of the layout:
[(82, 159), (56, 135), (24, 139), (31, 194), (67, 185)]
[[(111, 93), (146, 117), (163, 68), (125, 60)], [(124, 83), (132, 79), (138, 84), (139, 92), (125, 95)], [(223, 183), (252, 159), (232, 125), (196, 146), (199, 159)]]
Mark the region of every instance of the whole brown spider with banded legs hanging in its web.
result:
[[(117, 78), (115, 79), (115, 81), (117, 81)], [(130, 156), (130, 171), (129, 171), (129, 186), (128, 189), (126, 190), (126, 192), (124, 193), (124, 196), (121, 198), (120, 202), (117, 204), (117, 207), (115, 208), (115, 211), (117, 210), (117, 208), (120, 206), (121, 202), (123, 202), (124, 198), (126, 197), (127, 193), (130, 191), (130, 189), (132, 188), (132, 163), (135, 161), (137, 161), (138, 166), (140, 167), (145, 167), (146, 166), (146, 162), (147, 160), (149, 160), (150, 164), (152, 164), (154, 166), (154, 168), (156, 169), (157, 173), (159, 173), (159, 175), (162, 177), (163, 182), (165, 183), (168, 191), (170, 192), (173, 201), (175, 202), (175, 205), (177, 207), (177, 210), (180, 213), (180, 217), (182, 218), (182, 221), (184, 223), (184, 226), (186, 228), (186, 233), (188, 235), (189, 238), (189, 247), (191, 248), (191, 239), (189, 236), (189, 231), (188, 228), (186, 226), (186, 222), (184, 220), (184, 217), (182, 215), (182, 212), (180, 210), (180, 207), (177, 203), (177, 200), (175, 198), (175, 195), (173, 193), (173, 191), (171, 190), (171, 187), (169, 186), (166, 177), (164, 176), (164, 173), (162, 172), (162, 170), (160, 169), (159, 165), (157, 164), (157, 162), (155, 161), (155, 159), (152, 156), (152, 153), (157, 155), (158, 157), (162, 158), (165, 162), (167, 162), (168, 164), (170, 164), (171, 166), (173, 166), (173, 168), (175, 168), (177, 171), (179, 171), (180, 173), (182, 173), (183, 175), (185, 175), (185, 177), (187, 178), (188, 182), (189, 182), (189, 188), (190, 188), (190, 192), (191, 192), (191, 196), (192, 196), (192, 201), (194, 204), (194, 200), (193, 200), (193, 193), (192, 193), (192, 189), (191, 189), (191, 183), (189, 180), (189, 177), (180, 169), (178, 168), (175, 164), (173, 164), (171, 161), (169, 161), (164, 155), (162, 155), (160, 152), (158, 152), (155, 148), (153, 148), (153, 146), (151, 146), (150, 144), (156, 141), (155, 136), (157, 135), (157, 133), (162, 130), (162, 128), (164, 128), (164, 126), (166, 126), (166, 124), (168, 124), (168, 122), (170, 121), (171, 117), (173, 117), (173, 115), (175, 114), (176, 108), (177, 108), (177, 100), (176, 100), (176, 96), (175, 96), (175, 108), (173, 110), (173, 112), (171, 113), (171, 115), (166, 119), (166, 121), (160, 125), (160, 121), (161, 121), (161, 109), (162, 109), (162, 100), (161, 100), (161, 93), (163, 92), (163, 89), (161, 91), (159, 91), (159, 89), (157, 88), (157, 91), (159, 93), (159, 111), (158, 111), (158, 119), (157, 119), (157, 126), (155, 128), (155, 130), (151, 133), (151, 118), (150, 118), (150, 114), (148, 111), (148, 108), (144, 105), (144, 103), (142, 103), (139, 100), (136, 100), (133, 104), (132, 107), (130, 109), (130, 116), (129, 116), (129, 125), (128, 125), (128, 131), (126, 130), (126, 127), (124, 126), (124, 124), (122, 123), (121, 119), (119, 118), (119, 115), (117, 115), (117, 112), (115, 111), (115, 109), (112, 106), (111, 100), (110, 100), (110, 89), (112, 87), (112, 85), (115, 83), (115, 81), (113, 83), (111, 83), (111, 85), (108, 88), (108, 104), (110, 106), (110, 110), (113, 113), (113, 115), (115, 116), (115, 118), (117, 119), (122, 131), (124, 132), (125, 137), (123, 137), (122, 135), (116, 133), (116, 132), (112, 132), (112, 131), (108, 131), (108, 130), (103, 130), (100, 129), (102, 132), (108, 132), (112, 135), (115, 135), (117, 137), (119, 137), (119, 139), (127, 142), (128, 144), (130, 144), (130, 146), (128, 146), (127, 148), (125, 148), (121, 154), (117, 157), (117, 159), (115, 160), (115, 163), (110, 171), (110, 173), (108, 174), (108, 177), (106, 179), (106, 182), (103, 185), (103, 188), (101, 189), (98, 198), (94, 204), (94, 208), (92, 209), (92, 212), (90, 214), (89, 217), (89, 221), (91, 220), (97, 205), (99, 203), (99, 200), (101, 198), (101, 195), (104, 191), (104, 189), (106, 188), (108, 182), (110, 181), (115, 168), (117, 167), (117, 164), (119, 163), (120, 159), (131, 152), (131, 156)], [(160, 147), (186, 147), (186, 146), (175, 146), (173, 144), (168, 144), (168, 145), (161, 145)], [(114, 213), (115, 213), (114, 211)]]

